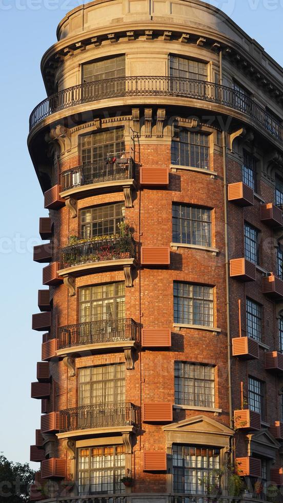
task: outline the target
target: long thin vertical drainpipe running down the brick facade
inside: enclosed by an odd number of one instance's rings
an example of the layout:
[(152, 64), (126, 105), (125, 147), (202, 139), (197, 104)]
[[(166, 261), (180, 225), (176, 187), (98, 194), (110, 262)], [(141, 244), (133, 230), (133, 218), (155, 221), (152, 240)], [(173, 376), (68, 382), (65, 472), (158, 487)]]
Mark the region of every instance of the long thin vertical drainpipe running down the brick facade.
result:
[(227, 204), (227, 163), (226, 163), (226, 132), (222, 131), (223, 143), (223, 181), (224, 181), (224, 220), (225, 220), (225, 269), (226, 269), (226, 310), (227, 310), (227, 362), (229, 385), (229, 418), (233, 429), (232, 413), (232, 379), (231, 379), (231, 332), (230, 332), (230, 289), (229, 289), (229, 242), (228, 242), (228, 204)]

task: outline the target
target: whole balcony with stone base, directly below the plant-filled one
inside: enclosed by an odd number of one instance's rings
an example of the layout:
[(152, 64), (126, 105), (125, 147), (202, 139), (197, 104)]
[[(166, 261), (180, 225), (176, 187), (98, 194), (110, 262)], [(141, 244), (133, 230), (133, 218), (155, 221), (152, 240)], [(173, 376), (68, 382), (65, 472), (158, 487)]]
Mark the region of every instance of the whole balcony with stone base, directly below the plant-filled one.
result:
[(135, 347), (140, 342), (139, 332), (138, 323), (131, 318), (86, 321), (75, 325), (60, 326), (57, 356)]

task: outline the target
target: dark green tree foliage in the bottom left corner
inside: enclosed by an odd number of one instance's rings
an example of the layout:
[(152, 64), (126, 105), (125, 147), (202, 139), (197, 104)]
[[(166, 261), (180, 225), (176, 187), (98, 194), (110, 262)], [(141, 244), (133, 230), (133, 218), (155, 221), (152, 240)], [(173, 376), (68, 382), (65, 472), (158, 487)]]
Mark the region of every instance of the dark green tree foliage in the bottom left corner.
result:
[(29, 501), (29, 487), (34, 481), (35, 471), (28, 463), (14, 463), (0, 454), (0, 501), (5, 503), (26, 503)]

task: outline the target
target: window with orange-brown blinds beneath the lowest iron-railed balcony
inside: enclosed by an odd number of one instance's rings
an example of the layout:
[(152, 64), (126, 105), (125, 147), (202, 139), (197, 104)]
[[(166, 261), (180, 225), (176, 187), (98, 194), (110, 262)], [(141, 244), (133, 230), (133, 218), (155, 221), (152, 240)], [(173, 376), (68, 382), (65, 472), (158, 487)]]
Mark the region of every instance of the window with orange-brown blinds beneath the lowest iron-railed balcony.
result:
[(125, 491), (125, 446), (88, 447), (78, 450), (78, 492), (115, 494)]

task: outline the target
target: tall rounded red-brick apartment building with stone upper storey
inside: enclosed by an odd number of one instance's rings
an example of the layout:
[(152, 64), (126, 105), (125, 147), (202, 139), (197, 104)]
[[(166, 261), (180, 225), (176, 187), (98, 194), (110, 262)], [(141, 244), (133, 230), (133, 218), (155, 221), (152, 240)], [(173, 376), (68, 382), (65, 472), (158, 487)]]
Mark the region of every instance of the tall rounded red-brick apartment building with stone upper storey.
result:
[(31, 500), (277, 497), (283, 70), (199, 0), (95, 0), (57, 38)]

